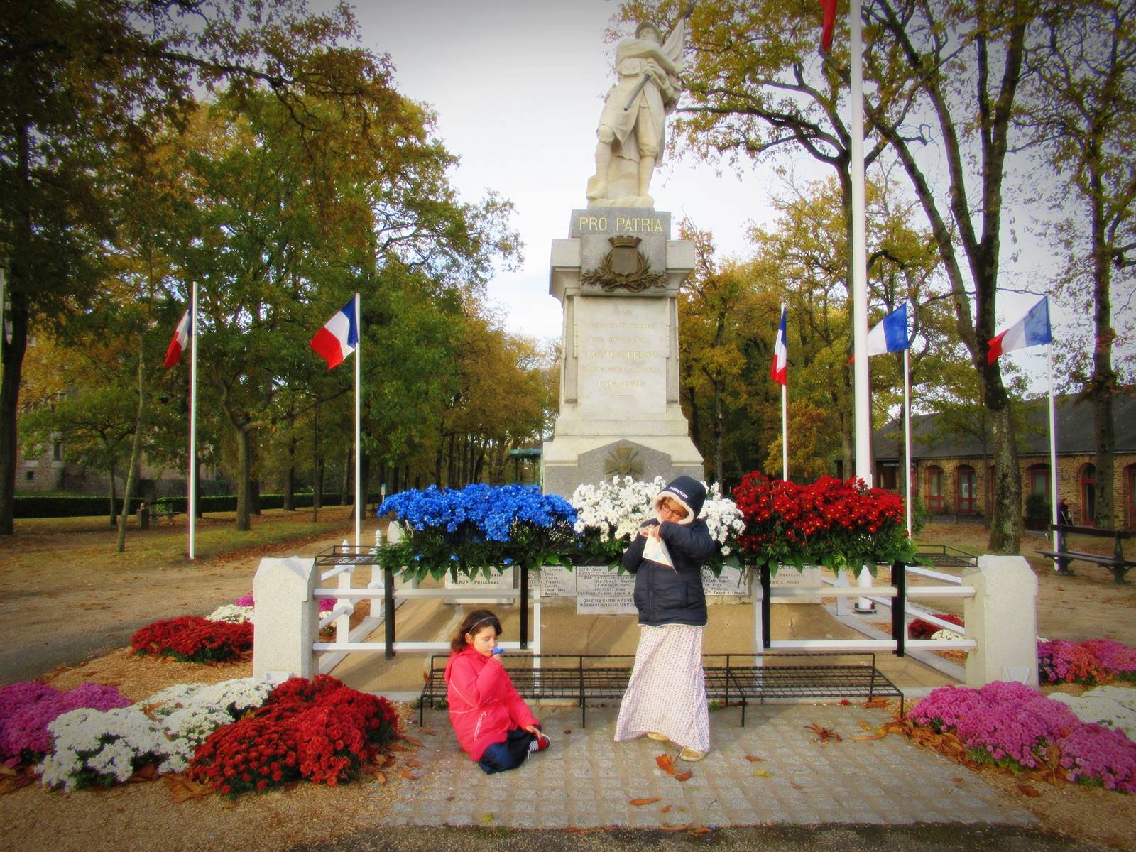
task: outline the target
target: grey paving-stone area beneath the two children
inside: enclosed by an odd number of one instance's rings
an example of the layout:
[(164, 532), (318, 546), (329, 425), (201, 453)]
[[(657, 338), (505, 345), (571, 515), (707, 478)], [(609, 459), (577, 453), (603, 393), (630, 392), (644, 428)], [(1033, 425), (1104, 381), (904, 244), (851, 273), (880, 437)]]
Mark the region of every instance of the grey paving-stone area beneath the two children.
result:
[[(713, 751), (699, 763), (675, 761), (678, 771), (693, 771), (686, 782), (655, 763), (659, 754), (677, 754), (668, 743), (612, 742), (616, 712), (590, 708), (582, 728), (578, 708), (540, 708), (552, 747), (519, 769), (484, 775), (459, 750), (446, 712), (428, 711), (426, 727), (435, 735), (420, 737), (416, 780), (400, 784), (385, 816), (365, 817), (359, 827), (1036, 824), (1027, 811), (1000, 804), (980, 777), (900, 736), (852, 740), (866, 733), (860, 720), (872, 727), (887, 721), (883, 710), (767, 704), (747, 709), (744, 728), (740, 710), (716, 712)], [(843, 741), (819, 742), (808, 729), (813, 724)]]

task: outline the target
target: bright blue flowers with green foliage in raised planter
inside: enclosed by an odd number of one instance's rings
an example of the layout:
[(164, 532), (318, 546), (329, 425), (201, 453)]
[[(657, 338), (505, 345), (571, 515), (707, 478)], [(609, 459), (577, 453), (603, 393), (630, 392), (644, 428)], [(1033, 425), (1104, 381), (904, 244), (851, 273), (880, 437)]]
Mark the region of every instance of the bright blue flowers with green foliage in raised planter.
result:
[(383, 501), (379, 517), (393, 516), (406, 538), (379, 551), (384, 567), (419, 578), (450, 574), (490, 576), (519, 563), (562, 563), (575, 550), (576, 510), (561, 496), (524, 485), (431, 486)]

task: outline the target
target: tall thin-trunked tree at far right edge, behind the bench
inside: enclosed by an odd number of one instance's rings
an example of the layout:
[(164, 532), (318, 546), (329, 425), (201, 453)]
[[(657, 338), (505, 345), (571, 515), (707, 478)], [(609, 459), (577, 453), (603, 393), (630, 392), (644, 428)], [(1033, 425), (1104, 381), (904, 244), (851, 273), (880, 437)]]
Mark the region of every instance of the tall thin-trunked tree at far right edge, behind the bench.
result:
[[(1113, 362), (1119, 312), (1112, 294), (1116, 283), (1131, 282), (1136, 266), (1130, 259), (1136, 251), (1136, 2), (1071, 3), (1050, 10), (1033, 27), (1037, 74), (1027, 84), (1020, 123), (1039, 145), (1043, 167), (1060, 177), (1047, 199), (1060, 211), (1051, 232), (1064, 256), (1059, 293), (1077, 314), (1092, 317), (1091, 337), (1072, 337), (1069, 356), (1093, 407), (1093, 520), (1112, 526), (1113, 399), (1120, 392)], [(1075, 207), (1068, 203), (1070, 189)], [(1121, 333), (1136, 334), (1136, 325), (1129, 320)]]

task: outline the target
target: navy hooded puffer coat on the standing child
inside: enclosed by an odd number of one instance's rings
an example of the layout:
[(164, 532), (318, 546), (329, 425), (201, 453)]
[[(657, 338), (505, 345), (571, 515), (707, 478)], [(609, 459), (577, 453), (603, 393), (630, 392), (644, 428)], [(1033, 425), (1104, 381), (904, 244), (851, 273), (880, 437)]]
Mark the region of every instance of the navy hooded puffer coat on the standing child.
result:
[(717, 546), (704, 520), (699, 520), (705, 488), (690, 476), (679, 476), (660, 491), (653, 506), (658, 513), (663, 498), (686, 509), (682, 521), (648, 520), (642, 528), (659, 526), (659, 537), (667, 545), (674, 567), (643, 558), (646, 536), (638, 534), (624, 553), (624, 567), (635, 575), (635, 607), (640, 624), (660, 627), (668, 624), (704, 626), (707, 596), (702, 588), (702, 563)]

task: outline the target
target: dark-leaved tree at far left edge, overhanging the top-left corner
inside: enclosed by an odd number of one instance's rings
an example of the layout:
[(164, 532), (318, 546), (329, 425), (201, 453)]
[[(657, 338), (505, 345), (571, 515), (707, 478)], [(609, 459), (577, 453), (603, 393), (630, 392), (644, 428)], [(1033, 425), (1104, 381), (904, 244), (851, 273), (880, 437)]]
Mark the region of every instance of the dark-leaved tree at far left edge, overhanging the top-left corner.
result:
[[(381, 65), (341, 40), (345, 5), (311, 15), (302, 0), (72, 3), (0, 9), (0, 254), (11, 335), (2, 342), (0, 534), (10, 535), (16, 417), (31, 323), (75, 314), (116, 240), (115, 158), (194, 107), (202, 89), (270, 91), (317, 149), (306, 93), (366, 115), (366, 72)], [(312, 156), (309, 161), (318, 158)]]

